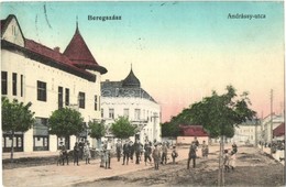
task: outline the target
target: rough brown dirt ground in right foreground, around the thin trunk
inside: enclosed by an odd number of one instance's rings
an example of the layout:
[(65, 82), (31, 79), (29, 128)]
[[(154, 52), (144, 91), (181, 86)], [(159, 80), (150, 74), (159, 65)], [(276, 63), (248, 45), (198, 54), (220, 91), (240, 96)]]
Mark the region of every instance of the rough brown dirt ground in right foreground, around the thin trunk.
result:
[[(186, 168), (187, 161), (161, 165), (160, 170), (147, 168), (75, 186), (217, 186), (218, 152), (198, 158), (196, 168)], [(262, 155), (253, 147), (240, 147), (237, 167), (226, 173), (226, 186), (285, 186), (280, 163)]]

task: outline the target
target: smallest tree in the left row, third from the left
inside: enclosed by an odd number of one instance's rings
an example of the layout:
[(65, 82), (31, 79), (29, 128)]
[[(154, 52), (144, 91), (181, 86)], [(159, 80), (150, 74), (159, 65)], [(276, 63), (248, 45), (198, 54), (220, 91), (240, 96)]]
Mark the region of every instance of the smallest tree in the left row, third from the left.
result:
[(100, 139), (102, 136), (106, 135), (106, 127), (103, 124), (103, 122), (96, 122), (96, 121), (89, 121), (88, 122), (88, 127), (90, 129), (90, 132), (89, 132), (89, 135), (92, 138), (92, 139), (97, 139), (97, 142), (98, 142), (98, 146), (99, 146), (99, 143), (100, 143)]

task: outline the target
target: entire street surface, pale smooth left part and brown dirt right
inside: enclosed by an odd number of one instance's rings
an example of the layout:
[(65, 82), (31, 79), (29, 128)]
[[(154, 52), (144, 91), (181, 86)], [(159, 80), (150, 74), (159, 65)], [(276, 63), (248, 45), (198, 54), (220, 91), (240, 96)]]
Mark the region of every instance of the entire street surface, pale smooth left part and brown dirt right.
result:
[[(3, 186), (216, 186), (218, 178), (218, 146), (209, 146), (208, 158), (198, 158), (197, 167), (186, 169), (188, 147), (178, 148), (177, 164), (160, 165), (160, 170), (142, 162), (122, 165), (111, 160), (111, 169), (99, 167), (99, 160), (86, 165), (46, 165), (3, 169)], [(229, 145), (230, 148), (230, 145)], [(169, 152), (170, 153), (170, 150)], [(200, 156), (200, 148), (198, 156)], [(170, 156), (168, 156), (170, 158)], [(284, 186), (283, 165), (257, 148), (239, 147), (237, 168), (226, 173), (227, 186)]]

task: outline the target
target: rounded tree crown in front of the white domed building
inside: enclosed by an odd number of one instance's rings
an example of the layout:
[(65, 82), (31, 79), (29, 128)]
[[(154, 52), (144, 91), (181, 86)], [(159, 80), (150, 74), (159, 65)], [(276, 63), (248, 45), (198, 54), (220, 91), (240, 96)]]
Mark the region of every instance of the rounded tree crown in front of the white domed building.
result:
[(110, 130), (119, 139), (128, 139), (136, 133), (136, 127), (132, 125), (125, 117), (119, 117)]

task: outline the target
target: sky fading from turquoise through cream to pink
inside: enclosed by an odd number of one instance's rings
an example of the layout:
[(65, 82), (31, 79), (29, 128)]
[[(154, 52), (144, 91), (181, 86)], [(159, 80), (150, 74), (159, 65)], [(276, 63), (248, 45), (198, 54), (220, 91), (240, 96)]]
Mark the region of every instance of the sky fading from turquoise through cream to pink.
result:
[[(261, 19), (230, 19), (234, 14)], [(64, 52), (76, 22), (100, 66), (101, 79), (131, 68), (168, 121), (184, 108), (232, 85), (249, 91), (257, 116), (284, 110), (283, 2), (2, 2), (1, 20), (18, 18), (26, 38)], [(88, 20), (121, 16), (121, 20)]]

